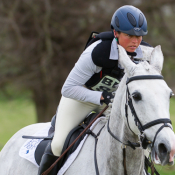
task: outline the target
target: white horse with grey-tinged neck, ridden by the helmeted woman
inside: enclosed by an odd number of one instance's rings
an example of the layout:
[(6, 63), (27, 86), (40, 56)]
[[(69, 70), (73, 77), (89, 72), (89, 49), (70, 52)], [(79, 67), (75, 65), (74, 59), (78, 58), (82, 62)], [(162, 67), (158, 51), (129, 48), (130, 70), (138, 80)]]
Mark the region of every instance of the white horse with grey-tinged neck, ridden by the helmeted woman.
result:
[[(161, 79), (163, 55), (160, 46), (152, 51), (149, 60), (150, 64), (143, 61), (136, 65), (119, 46), (119, 62), (125, 69), (125, 76), (116, 91), (110, 115), (101, 120), (93, 130), (98, 133), (104, 126), (96, 146), (96, 169), (99, 175), (124, 175), (126, 172), (128, 175), (143, 175), (144, 150), (142, 147), (132, 149), (128, 146), (128, 141), (138, 146), (140, 138), (144, 136), (152, 142), (153, 162), (159, 161), (162, 165), (174, 164), (175, 135), (169, 123), (169, 98), (172, 91)], [(131, 79), (126, 85), (128, 78)], [(135, 114), (133, 110), (131, 112), (131, 106), (126, 105), (126, 110), (125, 104), (128, 104), (128, 100), (132, 100)], [(37, 175), (38, 168), (19, 157), (18, 152), (26, 141), (22, 139), (22, 135), (33, 135), (45, 125), (40, 123), (27, 126), (7, 142), (0, 153), (0, 174)], [(94, 138), (88, 136), (65, 175), (98, 174), (94, 165), (94, 147)], [(124, 147), (126, 149), (123, 149)]]

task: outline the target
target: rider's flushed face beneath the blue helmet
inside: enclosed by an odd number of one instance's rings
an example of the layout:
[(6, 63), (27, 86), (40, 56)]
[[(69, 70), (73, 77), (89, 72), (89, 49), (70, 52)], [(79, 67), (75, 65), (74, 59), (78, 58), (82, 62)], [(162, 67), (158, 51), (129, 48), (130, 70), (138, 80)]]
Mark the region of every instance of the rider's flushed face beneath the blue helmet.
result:
[(142, 36), (128, 35), (126, 33), (114, 32), (118, 38), (119, 44), (128, 52), (134, 52), (142, 41)]

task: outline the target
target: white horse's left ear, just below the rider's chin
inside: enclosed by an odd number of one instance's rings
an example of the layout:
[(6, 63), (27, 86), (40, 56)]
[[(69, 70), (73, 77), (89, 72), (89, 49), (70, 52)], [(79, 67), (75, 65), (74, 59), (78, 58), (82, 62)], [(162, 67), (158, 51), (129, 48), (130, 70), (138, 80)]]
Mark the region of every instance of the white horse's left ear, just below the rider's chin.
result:
[(131, 75), (132, 72), (135, 70), (136, 65), (131, 61), (131, 59), (126, 53), (126, 50), (122, 46), (118, 45), (118, 49), (119, 49), (119, 64), (122, 66), (122, 68), (124, 68), (125, 72), (128, 75)]

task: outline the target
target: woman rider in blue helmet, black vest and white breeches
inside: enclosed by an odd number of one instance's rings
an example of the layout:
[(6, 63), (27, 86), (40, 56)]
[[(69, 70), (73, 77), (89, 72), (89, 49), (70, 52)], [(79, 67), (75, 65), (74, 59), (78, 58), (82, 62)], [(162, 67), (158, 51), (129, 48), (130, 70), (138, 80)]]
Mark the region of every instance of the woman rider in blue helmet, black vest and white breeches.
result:
[[(111, 20), (113, 39), (88, 46), (67, 77), (56, 114), (55, 135), (46, 147), (38, 174), (41, 175), (61, 155), (68, 133), (91, 112), (100, 112), (113, 98), (112, 91), (123, 76), (118, 64), (118, 44), (134, 59), (143, 57), (140, 47), (147, 34), (147, 21), (136, 7), (125, 5), (117, 9)], [(52, 169), (51, 175), (56, 174)]]

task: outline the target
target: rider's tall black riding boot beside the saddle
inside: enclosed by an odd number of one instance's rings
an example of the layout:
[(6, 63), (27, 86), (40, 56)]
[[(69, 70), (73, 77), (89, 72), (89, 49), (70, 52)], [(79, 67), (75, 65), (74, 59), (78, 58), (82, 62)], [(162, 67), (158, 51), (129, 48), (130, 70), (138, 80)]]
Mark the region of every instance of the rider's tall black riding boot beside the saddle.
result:
[[(41, 175), (42, 173), (44, 173), (57, 159), (58, 157), (54, 156), (52, 153), (51, 142), (49, 142), (41, 158), (38, 175)], [(48, 175), (56, 175), (57, 173), (58, 173), (58, 168), (57, 168), (57, 165), (55, 165)]]

